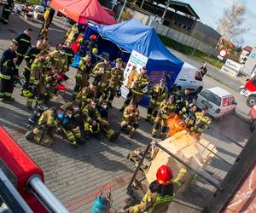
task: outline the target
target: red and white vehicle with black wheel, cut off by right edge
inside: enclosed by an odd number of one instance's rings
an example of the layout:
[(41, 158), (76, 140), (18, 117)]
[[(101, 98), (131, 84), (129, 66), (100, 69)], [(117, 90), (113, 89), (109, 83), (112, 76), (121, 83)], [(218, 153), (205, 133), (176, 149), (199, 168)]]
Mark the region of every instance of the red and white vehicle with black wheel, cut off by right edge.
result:
[(253, 107), (256, 104), (256, 76), (248, 79), (247, 82), (240, 87), (240, 94), (247, 97), (248, 107)]

